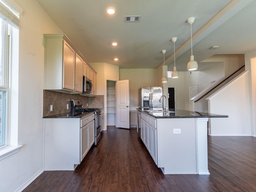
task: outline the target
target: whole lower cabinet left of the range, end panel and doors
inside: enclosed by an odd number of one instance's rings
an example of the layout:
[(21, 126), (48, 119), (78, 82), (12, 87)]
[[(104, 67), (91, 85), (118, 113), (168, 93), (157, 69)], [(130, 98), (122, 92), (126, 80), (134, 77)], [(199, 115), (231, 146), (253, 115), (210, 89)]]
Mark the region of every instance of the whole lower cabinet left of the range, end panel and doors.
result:
[(44, 170), (74, 170), (94, 144), (94, 114), (43, 122)]

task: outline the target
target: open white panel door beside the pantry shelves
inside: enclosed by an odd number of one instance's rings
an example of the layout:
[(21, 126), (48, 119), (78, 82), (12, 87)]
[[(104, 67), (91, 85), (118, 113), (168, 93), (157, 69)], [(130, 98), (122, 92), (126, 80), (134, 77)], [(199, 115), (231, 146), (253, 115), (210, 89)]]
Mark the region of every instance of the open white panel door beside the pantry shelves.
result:
[(130, 129), (129, 80), (116, 82), (116, 127)]

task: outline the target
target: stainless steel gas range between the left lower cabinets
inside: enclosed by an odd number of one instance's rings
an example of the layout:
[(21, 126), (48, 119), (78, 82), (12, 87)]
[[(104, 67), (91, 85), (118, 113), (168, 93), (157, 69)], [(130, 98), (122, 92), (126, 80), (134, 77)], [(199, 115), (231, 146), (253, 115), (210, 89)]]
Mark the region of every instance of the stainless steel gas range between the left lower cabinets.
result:
[(83, 108), (82, 100), (71, 100), (71, 114), (72, 115), (79, 115), (84, 112), (94, 112), (95, 119), (94, 119), (94, 145), (97, 145), (101, 134), (100, 134), (100, 114), (101, 110), (99, 108)]

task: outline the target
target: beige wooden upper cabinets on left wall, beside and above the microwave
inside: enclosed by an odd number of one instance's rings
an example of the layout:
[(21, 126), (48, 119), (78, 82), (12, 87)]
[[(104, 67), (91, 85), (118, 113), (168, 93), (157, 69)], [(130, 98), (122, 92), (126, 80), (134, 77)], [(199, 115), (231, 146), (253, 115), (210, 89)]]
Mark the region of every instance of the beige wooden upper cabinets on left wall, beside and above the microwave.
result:
[(45, 89), (81, 94), (90, 68), (82, 54), (64, 34), (44, 34), (44, 49)]

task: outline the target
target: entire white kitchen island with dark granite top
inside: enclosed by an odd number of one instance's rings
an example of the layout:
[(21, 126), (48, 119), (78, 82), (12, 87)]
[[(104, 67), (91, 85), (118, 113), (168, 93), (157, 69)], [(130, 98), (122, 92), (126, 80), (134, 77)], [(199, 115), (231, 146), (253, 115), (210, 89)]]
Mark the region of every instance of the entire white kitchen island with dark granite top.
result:
[(208, 118), (226, 115), (138, 108), (140, 138), (164, 174), (210, 174)]

